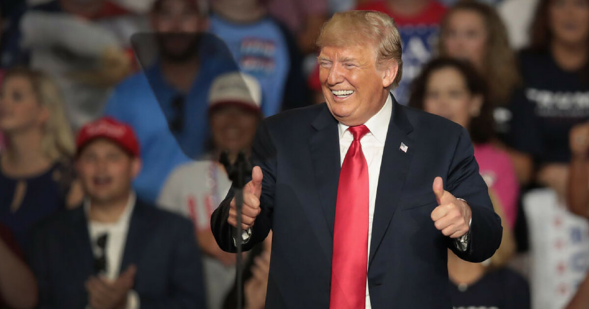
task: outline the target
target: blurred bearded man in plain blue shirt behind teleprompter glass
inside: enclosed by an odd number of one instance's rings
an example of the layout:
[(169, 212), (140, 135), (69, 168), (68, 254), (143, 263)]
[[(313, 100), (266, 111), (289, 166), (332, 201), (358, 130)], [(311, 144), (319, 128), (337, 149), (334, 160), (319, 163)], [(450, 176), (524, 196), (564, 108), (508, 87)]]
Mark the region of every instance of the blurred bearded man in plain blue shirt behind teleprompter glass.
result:
[[(155, 1), (155, 32), (136, 34), (132, 40), (145, 72), (118, 85), (105, 109), (137, 132), (144, 167), (134, 188), (145, 201), (155, 202), (174, 167), (203, 154), (211, 81), (237, 69), (223, 42), (202, 33), (206, 24), (197, 1)], [(158, 47), (151, 57), (155, 61), (146, 56), (153, 53), (152, 42)]]

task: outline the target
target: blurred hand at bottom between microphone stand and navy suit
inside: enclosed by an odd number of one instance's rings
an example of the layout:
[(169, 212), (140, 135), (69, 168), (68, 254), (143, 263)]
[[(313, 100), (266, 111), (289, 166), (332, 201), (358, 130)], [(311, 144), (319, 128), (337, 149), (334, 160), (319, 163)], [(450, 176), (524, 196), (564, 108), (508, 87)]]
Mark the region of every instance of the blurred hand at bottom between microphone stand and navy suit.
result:
[(246, 300), (246, 309), (262, 309), (266, 302), (266, 288), (268, 285), (268, 273), (270, 271), (270, 251), (264, 250), (262, 254), (254, 258), (252, 265), (252, 278), (243, 285)]

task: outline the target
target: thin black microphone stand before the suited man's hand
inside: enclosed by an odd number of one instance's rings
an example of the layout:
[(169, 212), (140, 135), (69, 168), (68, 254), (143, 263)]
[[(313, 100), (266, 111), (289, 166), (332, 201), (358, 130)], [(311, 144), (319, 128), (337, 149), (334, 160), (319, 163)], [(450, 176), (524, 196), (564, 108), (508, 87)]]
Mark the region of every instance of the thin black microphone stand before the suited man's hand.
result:
[(241, 248), (243, 247), (243, 238), (241, 236), (241, 209), (243, 208), (243, 187), (246, 185), (246, 175), (252, 174), (252, 166), (246, 159), (243, 151), (237, 155), (237, 160), (231, 164), (229, 161), (229, 152), (221, 152), (219, 162), (223, 164), (229, 179), (233, 181), (233, 191), (235, 193), (235, 208), (237, 210), (237, 226), (234, 228), (235, 247), (237, 248), (236, 261), (236, 285), (237, 285), (237, 309), (243, 308), (243, 265), (241, 263)]

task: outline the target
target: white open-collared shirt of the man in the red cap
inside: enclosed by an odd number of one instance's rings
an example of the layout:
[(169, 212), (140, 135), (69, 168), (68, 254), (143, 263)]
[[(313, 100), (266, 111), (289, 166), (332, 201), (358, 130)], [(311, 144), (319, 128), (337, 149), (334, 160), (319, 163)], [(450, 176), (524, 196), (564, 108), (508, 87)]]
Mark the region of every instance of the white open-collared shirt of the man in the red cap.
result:
[[(123, 260), (123, 253), (125, 250), (125, 242), (127, 241), (127, 232), (129, 223), (131, 221), (131, 213), (135, 207), (135, 192), (131, 192), (125, 210), (118, 218), (117, 222), (102, 223), (88, 220), (88, 234), (90, 234), (90, 243), (92, 245), (92, 252), (94, 256), (100, 255), (100, 248), (98, 248), (97, 239), (103, 234), (108, 234), (105, 246), (106, 252), (106, 269), (103, 274), (107, 280), (117, 280), (119, 275), (119, 268), (121, 267), (121, 260)], [(86, 217), (90, 214), (90, 200), (84, 201), (84, 211)], [(125, 271), (125, 270), (123, 270)], [(134, 290), (127, 294), (126, 309), (139, 309), (139, 296)], [(90, 308), (90, 305), (87, 306)]]

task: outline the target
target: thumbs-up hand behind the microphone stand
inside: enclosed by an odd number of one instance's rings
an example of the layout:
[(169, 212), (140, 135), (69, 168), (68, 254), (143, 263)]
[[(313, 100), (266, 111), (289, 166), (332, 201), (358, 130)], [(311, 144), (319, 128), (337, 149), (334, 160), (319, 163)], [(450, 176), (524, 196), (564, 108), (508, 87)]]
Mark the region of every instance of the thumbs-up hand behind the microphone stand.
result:
[[(262, 169), (254, 167), (252, 170), (252, 180), (247, 182), (243, 187), (243, 208), (241, 209), (241, 228), (247, 230), (254, 225), (257, 215), (260, 214), (260, 195), (262, 195)], [(227, 222), (237, 227), (237, 208), (235, 198), (231, 200), (229, 218)]]

